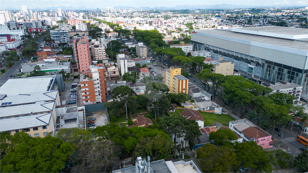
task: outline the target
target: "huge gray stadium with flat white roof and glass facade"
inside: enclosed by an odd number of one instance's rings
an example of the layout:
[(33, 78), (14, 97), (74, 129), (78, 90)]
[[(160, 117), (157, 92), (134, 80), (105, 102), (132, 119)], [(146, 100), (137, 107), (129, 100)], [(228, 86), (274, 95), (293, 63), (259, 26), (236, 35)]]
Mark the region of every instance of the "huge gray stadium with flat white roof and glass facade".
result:
[(234, 63), (234, 70), (260, 84), (282, 80), (308, 90), (307, 29), (262, 26), (195, 30), (191, 43), (193, 51), (210, 51), (213, 59), (225, 56)]

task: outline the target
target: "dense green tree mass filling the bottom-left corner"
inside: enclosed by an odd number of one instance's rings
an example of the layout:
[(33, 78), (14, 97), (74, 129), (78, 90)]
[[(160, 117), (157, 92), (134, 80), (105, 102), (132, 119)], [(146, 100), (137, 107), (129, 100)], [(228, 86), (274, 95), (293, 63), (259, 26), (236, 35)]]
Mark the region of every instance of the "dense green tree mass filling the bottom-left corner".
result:
[(59, 138), (32, 138), (24, 131), (14, 134), (10, 140), (10, 151), (0, 160), (1, 172), (58, 172), (73, 150)]

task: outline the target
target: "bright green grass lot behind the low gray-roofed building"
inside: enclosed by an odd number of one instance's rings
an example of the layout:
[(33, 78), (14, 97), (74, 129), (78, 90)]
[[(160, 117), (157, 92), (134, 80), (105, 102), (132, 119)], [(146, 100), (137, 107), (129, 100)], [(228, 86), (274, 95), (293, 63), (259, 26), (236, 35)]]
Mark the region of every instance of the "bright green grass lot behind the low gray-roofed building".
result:
[(202, 112), (199, 111), (200, 114), (204, 117), (205, 123), (204, 125), (209, 126), (212, 125), (215, 122), (219, 122), (225, 126), (229, 126), (229, 121), (233, 121), (234, 119), (230, 117), (229, 115), (225, 114), (214, 114), (209, 112)]

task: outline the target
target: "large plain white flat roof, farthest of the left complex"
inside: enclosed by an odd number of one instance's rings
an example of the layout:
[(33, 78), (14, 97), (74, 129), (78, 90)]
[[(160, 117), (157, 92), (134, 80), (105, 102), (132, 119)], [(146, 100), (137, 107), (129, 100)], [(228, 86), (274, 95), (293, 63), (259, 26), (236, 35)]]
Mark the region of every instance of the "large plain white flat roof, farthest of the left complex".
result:
[(18, 95), (32, 92), (47, 91), (47, 86), (53, 78), (17, 78), (9, 79), (0, 87), (0, 93)]

